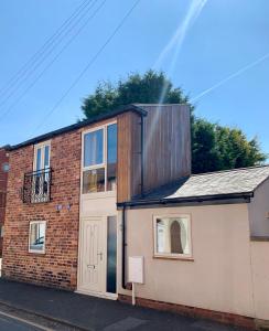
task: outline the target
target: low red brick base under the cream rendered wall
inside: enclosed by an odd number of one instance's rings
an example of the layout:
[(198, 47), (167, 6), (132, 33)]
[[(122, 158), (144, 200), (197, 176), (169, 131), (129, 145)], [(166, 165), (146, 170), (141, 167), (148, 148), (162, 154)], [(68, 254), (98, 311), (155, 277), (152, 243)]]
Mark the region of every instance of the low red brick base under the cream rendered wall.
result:
[[(119, 295), (118, 299), (121, 302), (131, 303), (131, 296)], [(143, 298), (136, 298), (136, 303), (141, 307), (147, 307), (147, 308), (152, 308), (152, 309), (158, 309), (163, 311), (171, 311), (171, 312), (175, 312), (189, 317), (208, 319), (225, 324), (243, 327), (248, 330), (257, 329), (256, 321), (254, 318), (244, 317), (239, 314), (214, 311), (214, 310), (183, 306), (183, 305), (169, 303), (163, 301), (154, 301), (154, 300), (143, 299)]]

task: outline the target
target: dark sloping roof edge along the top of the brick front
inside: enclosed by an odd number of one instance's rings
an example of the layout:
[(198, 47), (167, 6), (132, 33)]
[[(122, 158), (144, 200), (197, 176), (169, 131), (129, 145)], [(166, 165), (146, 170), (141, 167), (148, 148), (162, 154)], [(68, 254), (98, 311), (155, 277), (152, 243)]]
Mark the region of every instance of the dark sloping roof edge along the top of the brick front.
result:
[(137, 113), (137, 114), (139, 114), (141, 116), (147, 116), (147, 114), (148, 114), (147, 110), (144, 110), (144, 109), (142, 109), (142, 108), (136, 106), (136, 105), (132, 105), (132, 104), (120, 106), (120, 107), (116, 108), (115, 110), (106, 111), (104, 114), (93, 116), (89, 119), (86, 119), (86, 120), (76, 122), (74, 125), (71, 125), (71, 126), (67, 126), (67, 127), (64, 127), (64, 128), (61, 128), (61, 129), (56, 129), (56, 130), (53, 130), (51, 132), (47, 132), (47, 134), (44, 134), (44, 135), (34, 137), (34, 138), (31, 138), (29, 140), (20, 142), (18, 145), (7, 146), (7, 150), (12, 151), (12, 150), (17, 150), (17, 149), (30, 146), (30, 145), (42, 142), (44, 140), (54, 138), (54, 137), (60, 136), (62, 134), (74, 131), (74, 130), (77, 130), (79, 128), (86, 127), (88, 125), (98, 122), (100, 120), (112, 118), (112, 117), (118, 116), (118, 115), (120, 115), (122, 113), (126, 113), (126, 111), (133, 111), (133, 113)]

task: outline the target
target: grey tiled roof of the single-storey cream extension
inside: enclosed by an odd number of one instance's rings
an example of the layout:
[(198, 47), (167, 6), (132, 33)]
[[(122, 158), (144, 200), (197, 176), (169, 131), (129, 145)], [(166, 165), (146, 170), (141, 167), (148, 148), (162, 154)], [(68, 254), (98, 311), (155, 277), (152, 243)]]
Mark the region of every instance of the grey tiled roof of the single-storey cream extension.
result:
[[(193, 197), (239, 197), (254, 191), (269, 178), (269, 164), (254, 168), (208, 172), (182, 178), (153, 190), (143, 196), (137, 196), (131, 204), (139, 202), (165, 202)], [(202, 200), (201, 200), (202, 201)]]

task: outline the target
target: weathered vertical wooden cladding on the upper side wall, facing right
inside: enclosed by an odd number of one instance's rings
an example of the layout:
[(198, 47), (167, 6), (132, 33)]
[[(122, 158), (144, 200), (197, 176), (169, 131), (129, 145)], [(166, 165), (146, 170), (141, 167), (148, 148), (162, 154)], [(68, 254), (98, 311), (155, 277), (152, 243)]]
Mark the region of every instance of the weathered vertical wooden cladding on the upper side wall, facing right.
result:
[(191, 127), (187, 106), (141, 106), (144, 118), (144, 191), (191, 173)]

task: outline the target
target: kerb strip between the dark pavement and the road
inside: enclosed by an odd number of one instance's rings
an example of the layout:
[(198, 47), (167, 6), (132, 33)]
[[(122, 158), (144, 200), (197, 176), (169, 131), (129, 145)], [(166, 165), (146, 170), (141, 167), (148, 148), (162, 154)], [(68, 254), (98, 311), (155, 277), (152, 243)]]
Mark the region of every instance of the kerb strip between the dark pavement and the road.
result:
[[(17, 305), (13, 305), (13, 303), (10, 303), (10, 302), (6, 302), (6, 301), (1, 301), (0, 300), (0, 305), (6, 306), (8, 308), (13, 308), (13, 309), (15, 309), (15, 310), (18, 310), (20, 312), (25, 312), (25, 313), (29, 313), (29, 314), (32, 314), (32, 316), (44, 318), (46, 320), (50, 320), (52, 322), (56, 322), (56, 323), (63, 324), (65, 327), (75, 328), (76, 330), (79, 330), (79, 331), (94, 331), (93, 329), (89, 329), (89, 328), (86, 329), (86, 328), (84, 328), (82, 325), (71, 323), (67, 320), (55, 318), (55, 317), (49, 316), (46, 313), (36, 312), (34, 310), (31, 310), (31, 309), (25, 309), (25, 308), (22, 308), (20, 306), (17, 306)], [(1, 312), (1, 310), (0, 310), (0, 312)]]

